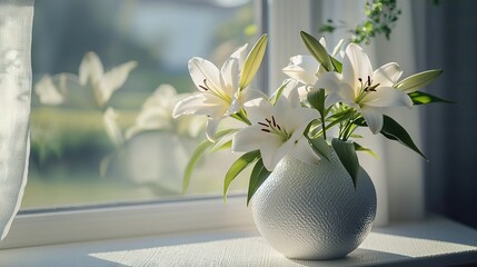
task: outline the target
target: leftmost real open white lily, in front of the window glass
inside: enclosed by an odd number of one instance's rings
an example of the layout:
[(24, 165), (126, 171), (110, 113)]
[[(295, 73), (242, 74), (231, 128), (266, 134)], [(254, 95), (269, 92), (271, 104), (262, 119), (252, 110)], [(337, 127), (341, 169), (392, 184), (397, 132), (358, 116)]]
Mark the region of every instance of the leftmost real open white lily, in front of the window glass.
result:
[(181, 115), (206, 115), (207, 138), (215, 140), (217, 127), (223, 118), (240, 111), (244, 102), (264, 96), (258, 90), (239, 88), (246, 48), (247, 44), (233, 52), (220, 70), (206, 59), (190, 59), (190, 77), (200, 92), (179, 101), (173, 109), (173, 118)]

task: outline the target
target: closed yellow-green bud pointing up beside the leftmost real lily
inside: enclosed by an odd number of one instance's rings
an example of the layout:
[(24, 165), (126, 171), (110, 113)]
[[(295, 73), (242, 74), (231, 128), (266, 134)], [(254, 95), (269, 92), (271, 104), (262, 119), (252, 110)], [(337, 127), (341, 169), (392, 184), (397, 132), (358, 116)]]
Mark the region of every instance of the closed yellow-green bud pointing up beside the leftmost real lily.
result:
[(240, 73), (239, 87), (240, 89), (246, 88), (258, 69), (260, 68), (261, 60), (264, 59), (265, 51), (267, 49), (267, 34), (262, 34), (260, 39), (255, 43), (254, 48), (247, 56), (247, 59), (244, 62), (244, 68)]

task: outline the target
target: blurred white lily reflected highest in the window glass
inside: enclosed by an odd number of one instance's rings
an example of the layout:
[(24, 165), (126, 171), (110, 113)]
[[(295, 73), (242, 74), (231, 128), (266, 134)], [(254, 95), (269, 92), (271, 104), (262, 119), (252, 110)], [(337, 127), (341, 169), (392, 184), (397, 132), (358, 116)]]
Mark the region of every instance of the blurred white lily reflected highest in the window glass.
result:
[(103, 107), (112, 93), (126, 82), (136, 66), (136, 61), (129, 61), (105, 72), (99, 57), (95, 52), (88, 52), (79, 67), (79, 82), (81, 86), (89, 85), (98, 107)]

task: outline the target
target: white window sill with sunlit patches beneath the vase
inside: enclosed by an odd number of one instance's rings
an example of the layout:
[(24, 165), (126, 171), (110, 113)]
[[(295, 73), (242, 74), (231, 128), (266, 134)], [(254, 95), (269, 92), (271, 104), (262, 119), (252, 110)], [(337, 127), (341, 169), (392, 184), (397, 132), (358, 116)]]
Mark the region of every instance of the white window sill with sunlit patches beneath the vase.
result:
[(477, 230), (443, 218), (376, 228), (348, 257), (290, 260), (255, 228), (0, 251), (1, 266), (449, 266), (477, 263)]

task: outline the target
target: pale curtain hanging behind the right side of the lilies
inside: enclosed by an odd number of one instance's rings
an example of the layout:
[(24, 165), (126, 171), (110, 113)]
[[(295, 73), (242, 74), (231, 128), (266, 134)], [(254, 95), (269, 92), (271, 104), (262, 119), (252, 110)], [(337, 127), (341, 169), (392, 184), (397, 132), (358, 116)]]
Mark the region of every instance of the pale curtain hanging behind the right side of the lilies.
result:
[[(344, 21), (345, 26), (356, 26), (364, 19), (365, 0), (325, 0), (321, 6), (321, 21), (335, 19)], [(418, 71), (418, 57), (414, 43), (415, 21), (410, 0), (398, 1), (401, 14), (387, 40), (377, 36), (369, 46), (364, 46), (372, 60), (372, 67), (378, 68), (387, 62), (398, 62), (404, 71), (403, 78)], [(348, 28), (338, 29), (331, 34), (331, 43), (340, 38), (349, 37)], [(401, 78), (401, 79), (403, 79)], [(427, 107), (425, 107), (427, 108)], [(421, 146), (420, 108), (395, 108), (388, 113), (409, 132), (418, 147)], [(378, 210), (375, 225), (386, 225), (389, 220), (423, 219), (425, 217), (424, 192), (424, 160), (419, 155), (403, 145), (390, 141), (381, 136), (362, 132), (365, 139), (371, 140), (365, 146), (374, 149), (380, 157), (377, 160), (364, 155), (360, 162), (375, 182), (378, 195)]]

